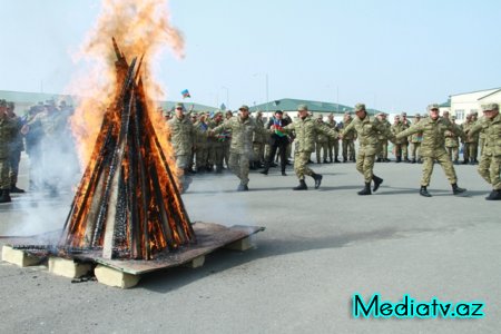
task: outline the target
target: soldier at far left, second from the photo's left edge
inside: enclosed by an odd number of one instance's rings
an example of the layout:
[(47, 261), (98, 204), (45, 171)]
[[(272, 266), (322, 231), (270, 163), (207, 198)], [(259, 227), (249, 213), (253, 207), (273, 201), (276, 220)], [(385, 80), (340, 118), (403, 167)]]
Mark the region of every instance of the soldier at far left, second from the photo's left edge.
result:
[(7, 116), (16, 126), (12, 143), (9, 147), (9, 163), (10, 163), (10, 193), (24, 193), (23, 189), (17, 187), (18, 174), (19, 174), (19, 163), (21, 161), (21, 151), (24, 150), (24, 144), (22, 143), (22, 120), (19, 116), (14, 114), (14, 104), (7, 102)]

